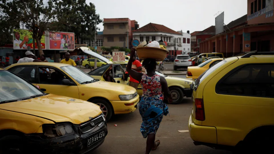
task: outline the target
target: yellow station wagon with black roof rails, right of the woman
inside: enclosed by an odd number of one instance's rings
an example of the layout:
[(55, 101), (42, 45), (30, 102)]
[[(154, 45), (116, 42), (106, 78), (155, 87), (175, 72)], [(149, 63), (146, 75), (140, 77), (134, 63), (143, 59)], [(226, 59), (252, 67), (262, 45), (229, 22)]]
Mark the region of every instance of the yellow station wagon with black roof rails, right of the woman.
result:
[(273, 153), (273, 85), (274, 52), (226, 58), (206, 70), (191, 86), (188, 128), (195, 145)]

